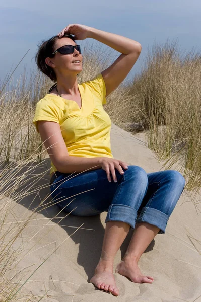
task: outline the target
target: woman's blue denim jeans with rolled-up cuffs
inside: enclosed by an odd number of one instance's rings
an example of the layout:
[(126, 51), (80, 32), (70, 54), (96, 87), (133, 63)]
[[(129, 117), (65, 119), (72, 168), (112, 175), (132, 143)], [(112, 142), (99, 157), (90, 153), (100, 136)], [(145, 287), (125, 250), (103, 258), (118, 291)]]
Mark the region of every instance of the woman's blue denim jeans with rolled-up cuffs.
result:
[[(107, 212), (105, 223), (122, 221), (132, 229), (147, 222), (165, 233), (167, 221), (185, 186), (176, 170), (146, 173), (139, 166), (115, 168), (117, 182), (109, 182), (102, 168), (71, 174), (56, 172), (51, 196), (57, 206), (75, 216), (93, 216)], [(71, 176), (70, 176), (71, 175)], [(54, 176), (54, 175), (53, 175)]]

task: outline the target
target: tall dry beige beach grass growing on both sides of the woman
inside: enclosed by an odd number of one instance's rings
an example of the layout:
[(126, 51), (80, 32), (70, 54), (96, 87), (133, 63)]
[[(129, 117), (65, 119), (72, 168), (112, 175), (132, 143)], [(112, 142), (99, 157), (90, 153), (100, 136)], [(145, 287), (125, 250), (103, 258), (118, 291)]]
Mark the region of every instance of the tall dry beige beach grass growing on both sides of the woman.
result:
[[(114, 57), (111, 49), (106, 53), (98, 46), (86, 47), (83, 53), (83, 71), (78, 77), (79, 83), (106, 69), (108, 62)], [(124, 81), (107, 97), (104, 109), (112, 123), (120, 128), (133, 134), (144, 133), (148, 147), (155, 152), (158, 161), (166, 169), (179, 163), (180, 172), (187, 180), (185, 188), (192, 194), (190, 202), (193, 202), (199, 213), (200, 54), (192, 50), (182, 57), (177, 42), (167, 41), (164, 45), (153, 46), (147, 55), (145, 66), (133, 81)], [(1, 302), (40, 301), (43, 296), (33, 296), (31, 293), (23, 296), (22, 288), (55, 252), (53, 248), (45, 260), (32, 270), (24, 268), (19, 271), (17, 268), (28, 253), (34, 253), (34, 247), (30, 246), (32, 237), (24, 240), (23, 231), (37, 220), (42, 209), (53, 204), (46, 201), (49, 195), (37, 207), (32, 208), (33, 194), (49, 184), (49, 169), (46, 169), (48, 152), (32, 120), (36, 103), (48, 93), (54, 83), (37, 70), (33, 71), (28, 83), (26, 76), (24, 71), (15, 85), (12, 78), (5, 79), (0, 87)], [(41, 180), (46, 180), (46, 184), (41, 185)], [(24, 217), (17, 217), (15, 206), (28, 196), (31, 214), (26, 214), (25, 211)], [(57, 219), (52, 217), (50, 221), (55, 222)], [(81, 226), (76, 230), (79, 228)], [(25, 248), (26, 245), (28, 249)], [(48, 295), (48, 292), (44, 295)]]

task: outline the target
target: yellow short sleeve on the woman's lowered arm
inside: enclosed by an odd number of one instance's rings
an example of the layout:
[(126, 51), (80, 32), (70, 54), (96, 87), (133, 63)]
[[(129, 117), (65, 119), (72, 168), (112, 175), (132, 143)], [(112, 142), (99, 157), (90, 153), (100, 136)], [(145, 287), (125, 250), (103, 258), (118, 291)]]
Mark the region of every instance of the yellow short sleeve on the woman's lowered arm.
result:
[(47, 102), (45, 99), (41, 99), (36, 104), (36, 111), (33, 118), (33, 124), (36, 126), (36, 130), (38, 131), (37, 121), (51, 121), (59, 124), (59, 112), (57, 106), (53, 105), (53, 103)]

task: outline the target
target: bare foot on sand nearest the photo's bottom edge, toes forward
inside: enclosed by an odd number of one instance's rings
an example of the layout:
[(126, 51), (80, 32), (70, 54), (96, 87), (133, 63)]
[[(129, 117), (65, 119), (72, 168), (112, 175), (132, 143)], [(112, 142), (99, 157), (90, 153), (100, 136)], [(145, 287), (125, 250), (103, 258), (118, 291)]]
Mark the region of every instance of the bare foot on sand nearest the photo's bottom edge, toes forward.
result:
[(119, 294), (114, 280), (112, 265), (107, 265), (103, 261), (98, 263), (90, 283), (93, 283), (98, 289), (111, 292), (115, 296)]

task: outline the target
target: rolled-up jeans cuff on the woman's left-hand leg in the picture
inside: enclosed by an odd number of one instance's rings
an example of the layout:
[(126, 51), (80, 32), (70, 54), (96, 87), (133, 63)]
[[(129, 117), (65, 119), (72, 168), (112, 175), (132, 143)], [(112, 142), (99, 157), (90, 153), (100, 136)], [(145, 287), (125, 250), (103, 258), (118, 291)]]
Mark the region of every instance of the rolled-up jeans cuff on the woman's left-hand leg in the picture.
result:
[(128, 223), (131, 228), (135, 228), (137, 219), (137, 210), (125, 204), (111, 204), (108, 208), (108, 213), (105, 223), (108, 221), (122, 221)]

